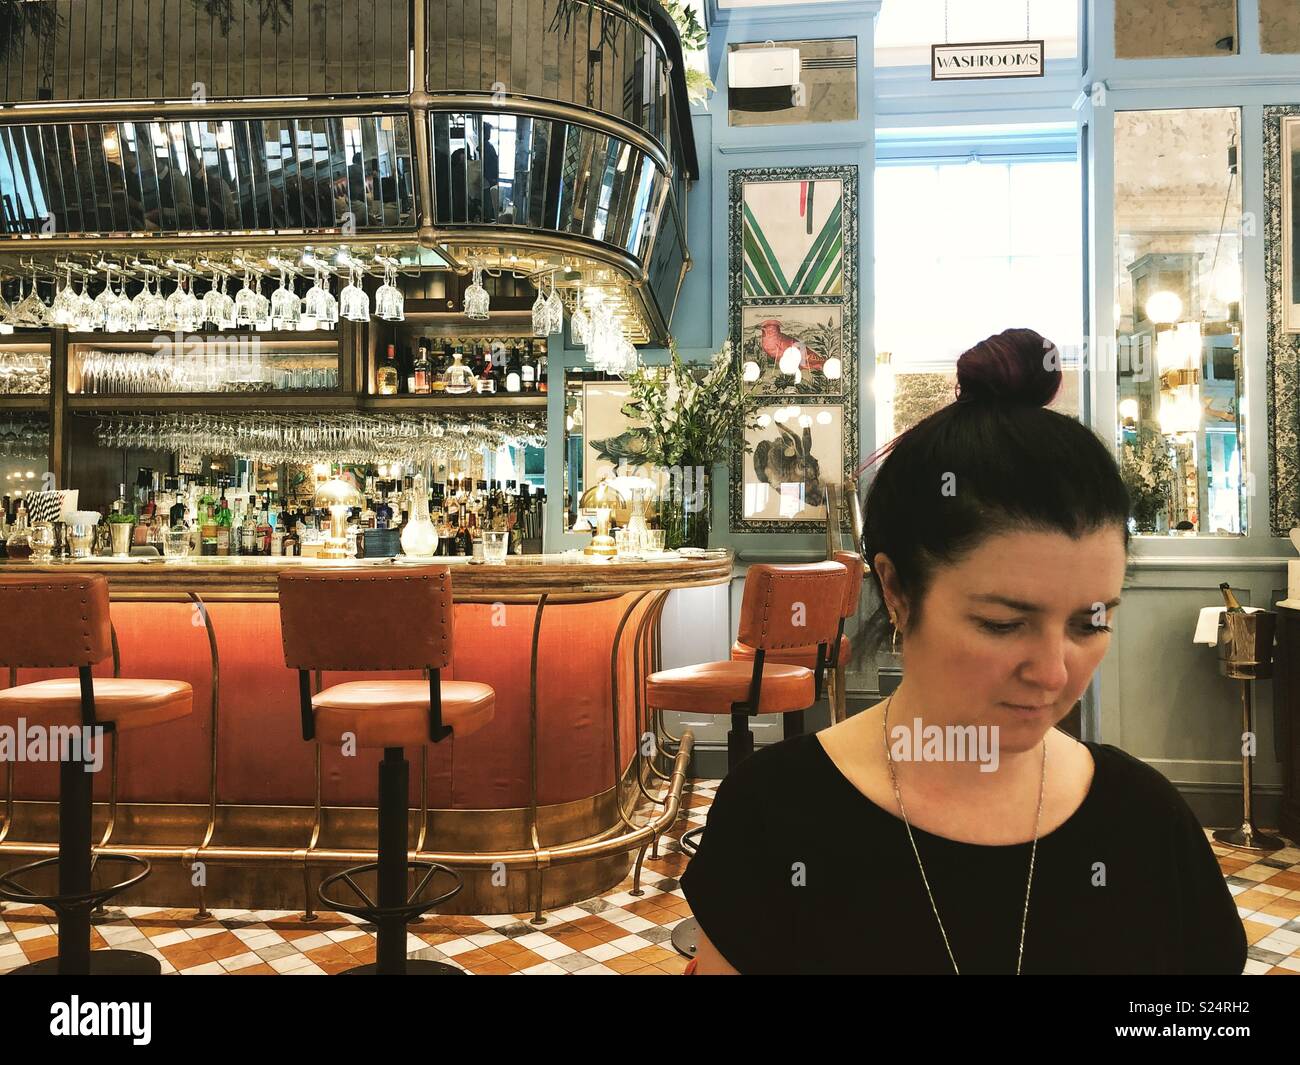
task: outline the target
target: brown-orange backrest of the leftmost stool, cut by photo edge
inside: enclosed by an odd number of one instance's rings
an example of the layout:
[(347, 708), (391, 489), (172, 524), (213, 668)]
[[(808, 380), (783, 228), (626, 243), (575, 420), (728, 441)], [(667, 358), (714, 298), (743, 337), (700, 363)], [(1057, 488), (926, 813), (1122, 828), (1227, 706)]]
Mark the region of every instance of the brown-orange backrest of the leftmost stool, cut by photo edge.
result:
[(0, 576), (0, 666), (88, 668), (112, 653), (101, 573)]

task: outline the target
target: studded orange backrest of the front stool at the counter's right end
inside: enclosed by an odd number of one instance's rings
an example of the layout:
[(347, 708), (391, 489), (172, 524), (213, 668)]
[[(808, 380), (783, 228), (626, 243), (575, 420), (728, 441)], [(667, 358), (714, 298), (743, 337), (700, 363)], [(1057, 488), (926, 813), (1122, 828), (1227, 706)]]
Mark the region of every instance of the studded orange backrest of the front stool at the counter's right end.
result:
[(758, 650), (829, 644), (840, 627), (848, 577), (835, 560), (750, 566), (740, 606), (740, 641)]

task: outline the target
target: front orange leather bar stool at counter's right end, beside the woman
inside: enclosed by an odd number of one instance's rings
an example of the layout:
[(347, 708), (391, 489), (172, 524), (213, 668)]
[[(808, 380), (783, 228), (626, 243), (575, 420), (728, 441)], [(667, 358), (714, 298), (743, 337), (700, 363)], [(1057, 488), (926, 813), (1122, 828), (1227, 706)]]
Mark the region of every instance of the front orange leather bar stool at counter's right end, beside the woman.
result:
[[(651, 674), (646, 703), (655, 710), (693, 714), (731, 714), (727, 767), (734, 769), (754, 752), (751, 714), (781, 714), (786, 739), (803, 732), (803, 711), (822, 692), (822, 674), (831, 661), (829, 646), (842, 635), (845, 585), (849, 571), (840, 562), (807, 566), (750, 566), (740, 607), (740, 644), (753, 648), (751, 659), (706, 662)], [(771, 654), (812, 646), (812, 664), (768, 662)], [(696, 853), (705, 826), (681, 836), (681, 849)], [(672, 944), (694, 957), (699, 925), (694, 918), (672, 930)]]

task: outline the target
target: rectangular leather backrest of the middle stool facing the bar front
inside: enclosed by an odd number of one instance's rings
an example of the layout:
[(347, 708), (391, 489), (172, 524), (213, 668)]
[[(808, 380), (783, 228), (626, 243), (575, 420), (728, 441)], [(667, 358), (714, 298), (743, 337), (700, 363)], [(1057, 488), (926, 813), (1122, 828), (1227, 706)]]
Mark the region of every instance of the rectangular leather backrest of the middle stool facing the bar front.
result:
[(442, 670), (451, 664), (451, 624), (446, 566), (280, 575), (291, 670)]

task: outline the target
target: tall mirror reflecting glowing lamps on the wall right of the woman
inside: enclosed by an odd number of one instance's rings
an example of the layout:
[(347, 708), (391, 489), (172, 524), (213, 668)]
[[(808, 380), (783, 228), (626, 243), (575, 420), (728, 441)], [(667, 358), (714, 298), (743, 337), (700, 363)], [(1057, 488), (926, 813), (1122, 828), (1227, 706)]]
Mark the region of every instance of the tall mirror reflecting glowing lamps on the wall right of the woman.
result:
[(1245, 532), (1240, 111), (1115, 114), (1119, 446), (1134, 532)]

